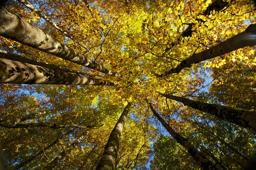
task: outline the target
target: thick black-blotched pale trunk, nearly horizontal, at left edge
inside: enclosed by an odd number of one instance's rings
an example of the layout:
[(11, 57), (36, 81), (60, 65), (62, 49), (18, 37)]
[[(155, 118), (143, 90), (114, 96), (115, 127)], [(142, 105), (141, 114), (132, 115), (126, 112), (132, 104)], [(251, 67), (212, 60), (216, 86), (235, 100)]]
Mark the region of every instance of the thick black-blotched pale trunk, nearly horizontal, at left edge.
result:
[(0, 58), (0, 83), (114, 85), (112, 82), (3, 58)]

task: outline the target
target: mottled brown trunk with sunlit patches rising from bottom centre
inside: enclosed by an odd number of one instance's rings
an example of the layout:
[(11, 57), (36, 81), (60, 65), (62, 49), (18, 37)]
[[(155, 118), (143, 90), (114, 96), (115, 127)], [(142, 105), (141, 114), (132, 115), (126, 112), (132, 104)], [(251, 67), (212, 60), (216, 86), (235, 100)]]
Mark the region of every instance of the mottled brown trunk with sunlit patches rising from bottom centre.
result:
[(105, 145), (104, 152), (101, 156), (101, 159), (98, 163), (96, 170), (115, 170), (116, 169), (116, 161), (117, 161), (118, 149), (119, 149), (119, 139), (120, 139), (130, 106), (131, 106), (131, 103), (128, 102), (116, 126), (110, 133), (109, 140)]

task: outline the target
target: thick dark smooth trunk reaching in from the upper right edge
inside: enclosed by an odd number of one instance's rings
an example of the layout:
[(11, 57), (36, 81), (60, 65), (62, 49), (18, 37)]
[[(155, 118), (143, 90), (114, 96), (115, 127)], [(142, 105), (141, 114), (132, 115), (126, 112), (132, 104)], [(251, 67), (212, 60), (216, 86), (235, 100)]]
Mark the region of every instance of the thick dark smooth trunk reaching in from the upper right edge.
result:
[(183, 60), (176, 68), (172, 68), (161, 75), (155, 74), (155, 76), (162, 77), (173, 73), (179, 73), (183, 68), (190, 67), (192, 64), (218, 57), (239, 48), (255, 46), (255, 36), (256, 24), (251, 24), (244, 32), (237, 34), (224, 42), (220, 42), (218, 45), (215, 45), (208, 50), (193, 54), (189, 58)]

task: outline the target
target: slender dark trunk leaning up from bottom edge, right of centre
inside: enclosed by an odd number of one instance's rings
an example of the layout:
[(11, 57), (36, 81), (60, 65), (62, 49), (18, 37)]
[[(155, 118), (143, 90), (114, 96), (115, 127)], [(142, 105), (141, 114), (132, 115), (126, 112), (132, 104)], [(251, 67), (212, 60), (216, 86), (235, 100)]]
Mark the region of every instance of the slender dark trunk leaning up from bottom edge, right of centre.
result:
[(156, 118), (162, 123), (162, 125), (165, 127), (165, 129), (170, 133), (171, 136), (174, 137), (174, 139), (181, 144), (187, 151), (190, 153), (190, 155), (194, 158), (194, 160), (199, 164), (199, 166), (203, 170), (218, 170), (213, 163), (200, 151), (198, 151), (191, 143), (189, 143), (188, 139), (185, 139), (183, 136), (181, 136), (179, 133), (175, 132), (172, 127), (170, 127), (163, 118), (154, 110), (151, 103), (149, 103), (150, 109), (156, 116)]

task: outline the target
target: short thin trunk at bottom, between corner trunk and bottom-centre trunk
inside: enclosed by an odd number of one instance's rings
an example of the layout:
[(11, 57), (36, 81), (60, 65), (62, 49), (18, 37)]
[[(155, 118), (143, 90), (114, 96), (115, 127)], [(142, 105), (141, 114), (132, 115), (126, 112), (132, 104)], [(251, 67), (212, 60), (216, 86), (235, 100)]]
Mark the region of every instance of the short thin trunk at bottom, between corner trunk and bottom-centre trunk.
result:
[(77, 144), (79, 144), (80, 140), (81, 138), (75, 140), (71, 145), (68, 146), (67, 149), (65, 149), (57, 157), (55, 157), (53, 161), (48, 163), (44, 170), (52, 170), (59, 163), (59, 161), (61, 161), (68, 153), (70, 153)]

